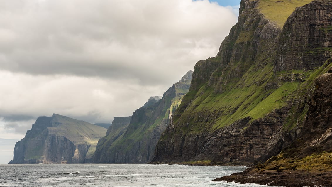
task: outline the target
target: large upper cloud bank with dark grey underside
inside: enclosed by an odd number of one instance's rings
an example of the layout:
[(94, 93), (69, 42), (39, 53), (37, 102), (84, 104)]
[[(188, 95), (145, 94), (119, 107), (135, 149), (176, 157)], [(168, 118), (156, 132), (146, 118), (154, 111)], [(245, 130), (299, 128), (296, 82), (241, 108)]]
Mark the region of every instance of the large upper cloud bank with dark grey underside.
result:
[(8, 8), (0, 19), (2, 69), (138, 78), (144, 84), (165, 82), (170, 65), (185, 72), (199, 57), (215, 55), (228, 33), (223, 28), (236, 20), (231, 8), (208, 1), (2, 3)]

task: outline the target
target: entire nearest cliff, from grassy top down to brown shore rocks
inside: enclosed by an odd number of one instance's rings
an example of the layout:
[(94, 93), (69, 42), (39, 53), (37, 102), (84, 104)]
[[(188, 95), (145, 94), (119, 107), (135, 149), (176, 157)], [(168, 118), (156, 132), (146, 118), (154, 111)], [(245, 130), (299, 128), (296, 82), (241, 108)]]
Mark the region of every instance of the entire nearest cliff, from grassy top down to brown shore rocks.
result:
[(151, 163), (255, 162), (218, 180), (331, 185), (331, 10), (331, 0), (242, 0), (217, 55), (195, 65)]

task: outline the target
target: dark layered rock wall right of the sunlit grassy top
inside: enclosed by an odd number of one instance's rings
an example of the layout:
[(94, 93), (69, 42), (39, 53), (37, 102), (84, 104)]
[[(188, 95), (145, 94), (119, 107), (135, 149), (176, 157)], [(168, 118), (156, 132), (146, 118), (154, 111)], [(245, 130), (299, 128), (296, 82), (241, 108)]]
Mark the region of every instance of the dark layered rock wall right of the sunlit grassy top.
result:
[(290, 15), (279, 37), (275, 71), (313, 69), (332, 56), (329, 3), (310, 3)]

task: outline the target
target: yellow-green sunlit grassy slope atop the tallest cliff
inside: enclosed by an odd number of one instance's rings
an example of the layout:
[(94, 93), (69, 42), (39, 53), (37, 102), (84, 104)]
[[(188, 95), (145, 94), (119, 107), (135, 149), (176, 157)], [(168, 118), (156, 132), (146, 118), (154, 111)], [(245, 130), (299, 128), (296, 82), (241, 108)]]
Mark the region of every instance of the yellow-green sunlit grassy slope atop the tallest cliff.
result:
[(296, 7), (310, 3), (312, 0), (260, 0), (259, 9), (267, 19), (283, 27), (287, 18)]

